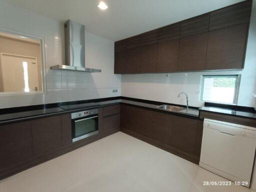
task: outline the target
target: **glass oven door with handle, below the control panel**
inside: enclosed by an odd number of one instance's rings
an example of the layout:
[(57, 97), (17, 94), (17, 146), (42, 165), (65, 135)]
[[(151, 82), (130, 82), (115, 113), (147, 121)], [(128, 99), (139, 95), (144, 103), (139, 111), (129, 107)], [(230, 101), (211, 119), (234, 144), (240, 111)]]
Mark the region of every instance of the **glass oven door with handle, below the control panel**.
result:
[(72, 142), (90, 137), (98, 133), (98, 116), (72, 119)]

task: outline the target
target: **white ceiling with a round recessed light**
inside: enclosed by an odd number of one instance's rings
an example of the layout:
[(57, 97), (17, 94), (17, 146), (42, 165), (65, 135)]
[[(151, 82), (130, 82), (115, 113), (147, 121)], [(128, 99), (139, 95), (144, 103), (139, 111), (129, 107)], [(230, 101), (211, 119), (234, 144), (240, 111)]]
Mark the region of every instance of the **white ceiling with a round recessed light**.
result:
[(50, 18), (72, 19), (93, 34), (117, 41), (243, 0), (4, 0)]

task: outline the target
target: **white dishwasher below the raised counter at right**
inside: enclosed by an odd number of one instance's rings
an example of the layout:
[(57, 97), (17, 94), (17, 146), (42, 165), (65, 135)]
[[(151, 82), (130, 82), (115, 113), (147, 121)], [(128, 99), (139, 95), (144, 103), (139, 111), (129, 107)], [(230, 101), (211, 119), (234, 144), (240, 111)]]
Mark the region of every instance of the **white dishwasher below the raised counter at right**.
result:
[(249, 187), (255, 148), (255, 128), (204, 119), (199, 166)]

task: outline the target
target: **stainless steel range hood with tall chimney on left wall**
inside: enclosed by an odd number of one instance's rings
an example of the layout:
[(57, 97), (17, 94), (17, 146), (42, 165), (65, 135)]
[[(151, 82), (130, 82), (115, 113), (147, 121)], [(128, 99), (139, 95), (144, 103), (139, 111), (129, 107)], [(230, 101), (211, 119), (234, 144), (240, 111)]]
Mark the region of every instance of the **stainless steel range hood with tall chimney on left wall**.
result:
[(101, 72), (100, 69), (85, 67), (85, 27), (82, 24), (68, 20), (65, 26), (65, 65), (51, 66), (50, 69)]

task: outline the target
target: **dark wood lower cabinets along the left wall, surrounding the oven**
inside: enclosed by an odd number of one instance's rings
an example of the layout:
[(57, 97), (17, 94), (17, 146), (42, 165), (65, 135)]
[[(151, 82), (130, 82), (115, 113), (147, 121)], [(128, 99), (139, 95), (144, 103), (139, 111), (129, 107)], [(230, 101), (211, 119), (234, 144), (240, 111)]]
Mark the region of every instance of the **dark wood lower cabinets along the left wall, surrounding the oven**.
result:
[[(118, 132), (119, 111), (113, 107), (115, 114), (105, 119), (105, 125), (98, 108), (99, 134), (74, 143), (70, 113), (0, 125), (0, 180)], [(105, 114), (111, 113), (109, 109), (105, 107)]]

